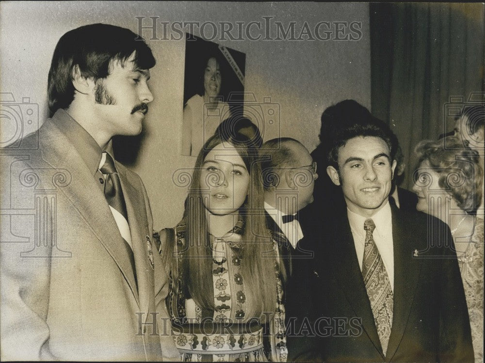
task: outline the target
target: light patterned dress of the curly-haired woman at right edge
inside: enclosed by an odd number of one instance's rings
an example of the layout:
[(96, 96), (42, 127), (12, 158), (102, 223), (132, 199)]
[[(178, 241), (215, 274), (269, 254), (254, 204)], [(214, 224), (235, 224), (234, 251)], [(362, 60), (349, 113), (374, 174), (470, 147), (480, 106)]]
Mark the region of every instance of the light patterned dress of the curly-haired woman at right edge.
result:
[(484, 361), (484, 222), (477, 219), (471, 242), (458, 257), (470, 317), (475, 362)]

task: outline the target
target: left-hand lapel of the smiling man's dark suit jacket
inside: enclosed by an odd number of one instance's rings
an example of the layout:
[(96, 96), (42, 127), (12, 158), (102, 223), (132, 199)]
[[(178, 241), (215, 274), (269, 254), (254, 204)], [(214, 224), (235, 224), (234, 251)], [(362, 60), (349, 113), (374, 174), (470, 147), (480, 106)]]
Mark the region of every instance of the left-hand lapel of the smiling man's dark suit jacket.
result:
[[(357, 260), (354, 237), (346, 215), (335, 221), (336, 228), (328, 241), (328, 261), (339, 286), (352, 306), (355, 316), (362, 321), (362, 328), (371, 339), (376, 349), (381, 352), (381, 343), (377, 335), (371, 303), (362, 278), (362, 271)], [(384, 357), (383, 357), (384, 359)]]

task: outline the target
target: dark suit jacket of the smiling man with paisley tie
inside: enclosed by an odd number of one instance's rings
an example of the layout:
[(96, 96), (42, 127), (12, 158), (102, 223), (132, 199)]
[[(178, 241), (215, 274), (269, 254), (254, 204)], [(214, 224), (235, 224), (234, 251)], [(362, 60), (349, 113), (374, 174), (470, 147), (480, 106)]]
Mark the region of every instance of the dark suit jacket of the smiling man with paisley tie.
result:
[[(290, 360), (473, 361), (468, 310), (449, 227), (423, 213), (391, 210), (394, 311), (386, 357), (350, 224), (346, 213), (338, 213), (301, 241), (304, 248), (314, 250), (315, 258), (311, 264), (295, 262), (302, 284), (300, 291), (288, 294), (300, 299), (298, 311), (287, 311), (299, 317), (295, 334), (288, 338)], [(310, 303), (301, 299), (302, 290), (309, 293)], [(299, 331), (304, 316), (309, 318), (309, 330), (304, 326), (307, 330)], [(302, 332), (321, 336), (302, 337)]]

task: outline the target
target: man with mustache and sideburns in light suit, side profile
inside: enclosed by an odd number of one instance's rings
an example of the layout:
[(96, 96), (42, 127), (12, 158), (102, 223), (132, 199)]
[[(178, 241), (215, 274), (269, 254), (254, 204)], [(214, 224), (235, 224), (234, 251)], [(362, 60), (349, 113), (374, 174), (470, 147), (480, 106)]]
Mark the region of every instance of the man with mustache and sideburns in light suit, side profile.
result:
[(153, 100), (155, 59), (137, 38), (108, 24), (65, 33), (49, 70), (51, 118), (4, 150), (2, 196), (36, 211), (35, 223), (2, 218), (2, 360), (179, 358), (157, 323), (168, 278), (146, 190), (113, 156), (113, 136), (138, 135)]

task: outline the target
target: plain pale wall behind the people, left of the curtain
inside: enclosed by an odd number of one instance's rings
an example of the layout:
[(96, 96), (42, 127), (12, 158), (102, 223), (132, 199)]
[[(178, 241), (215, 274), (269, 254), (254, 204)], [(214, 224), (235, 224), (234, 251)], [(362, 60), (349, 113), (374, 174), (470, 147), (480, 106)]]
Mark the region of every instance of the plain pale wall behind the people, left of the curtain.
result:
[[(0, 89), (12, 93), (16, 101), (30, 97), (39, 105), (39, 120), (46, 117), (47, 76), (50, 59), (58, 39), (68, 30), (78, 26), (103, 22), (139, 32), (139, 20), (151, 25), (149, 16), (159, 16), (156, 32), (143, 30), (143, 36), (162, 38), (162, 21), (168, 22), (166, 36), (178, 36), (170, 31), (176, 21), (210, 21), (216, 24), (214, 42), (246, 53), (245, 90), (254, 93), (258, 102), (270, 97), (277, 104), (279, 131), (264, 134), (264, 140), (278, 136), (290, 136), (303, 142), (311, 151), (318, 144), (320, 116), (331, 104), (346, 98), (354, 98), (370, 107), (370, 37), (369, 5), (366, 3), (226, 3), (226, 2), (2, 2), (0, 4)], [(263, 16), (271, 16), (270, 27), (265, 28)], [(247, 29), (251, 21), (261, 24), (251, 26), (249, 36), (260, 35), (257, 41), (249, 40), (242, 33), (242, 40), (221, 40), (220, 22), (237, 23)], [(298, 38), (305, 22), (310, 36), (315, 26), (330, 22), (334, 32), (324, 34), (326, 25), (319, 33), (328, 40), (275, 40), (275, 22), (281, 22), (286, 30), (295, 22), (295, 38)], [(356, 41), (336, 40), (345, 37), (336, 34), (336, 22), (359, 22), (361, 36)], [(358, 26), (358, 25), (357, 25)], [(189, 28), (184, 28), (187, 31)], [(206, 26), (205, 34), (212, 36), (212, 26)], [(266, 31), (269, 38), (263, 40)], [(200, 36), (195, 29), (194, 34)], [(155, 36), (154, 36), (155, 35)], [(285, 38), (279, 34), (280, 38)], [(266, 36), (268, 37), (268, 36)], [(289, 38), (290, 35), (287, 36)], [(146, 117), (143, 137), (123, 139), (118, 144), (139, 145), (136, 158), (130, 167), (140, 174), (151, 200), (155, 226), (173, 226), (180, 219), (186, 189), (172, 180), (179, 168), (190, 169), (195, 158), (180, 156), (181, 114), (183, 97), (184, 40), (148, 40), (157, 65), (151, 70), (150, 87), (155, 101)], [(251, 107), (249, 107), (251, 108)], [(3, 140), (3, 139), (2, 139)], [(120, 150), (121, 152), (123, 150)]]

